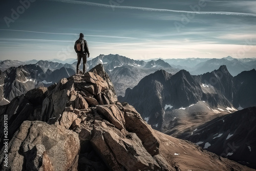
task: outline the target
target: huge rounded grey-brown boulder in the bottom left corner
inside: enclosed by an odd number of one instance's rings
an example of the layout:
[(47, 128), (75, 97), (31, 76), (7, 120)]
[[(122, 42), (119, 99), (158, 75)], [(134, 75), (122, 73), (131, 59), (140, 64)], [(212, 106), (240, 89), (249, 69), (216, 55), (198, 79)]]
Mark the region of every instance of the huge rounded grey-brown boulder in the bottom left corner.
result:
[(24, 121), (9, 143), (9, 165), (1, 170), (77, 170), (79, 147), (78, 135), (62, 126)]

